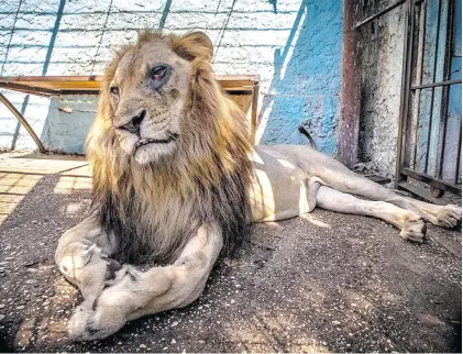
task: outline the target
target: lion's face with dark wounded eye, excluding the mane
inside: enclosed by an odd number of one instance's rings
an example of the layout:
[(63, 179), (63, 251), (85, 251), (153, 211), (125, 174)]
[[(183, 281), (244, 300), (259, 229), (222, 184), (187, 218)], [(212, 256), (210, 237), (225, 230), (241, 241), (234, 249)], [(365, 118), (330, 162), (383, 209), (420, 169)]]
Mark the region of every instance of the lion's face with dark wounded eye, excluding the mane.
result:
[(191, 62), (158, 38), (128, 51), (109, 85), (120, 146), (139, 164), (169, 156), (179, 143)]

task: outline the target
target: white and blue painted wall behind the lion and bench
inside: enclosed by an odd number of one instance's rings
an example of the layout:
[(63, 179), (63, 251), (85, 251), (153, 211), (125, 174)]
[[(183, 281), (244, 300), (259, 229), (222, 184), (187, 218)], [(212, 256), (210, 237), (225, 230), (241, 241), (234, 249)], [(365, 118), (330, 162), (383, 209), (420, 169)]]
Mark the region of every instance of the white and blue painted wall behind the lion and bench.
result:
[[(335, 154), (339, 0), (0, 0), (0, 76), (101, 74), (111, 48), (146, 27), (202, 30), (216, 47), (217, 74), (261, 76), (257, 141), (307, 144), (297, 131), (306, 124), (318, 146)], [(82, 152), (95, 98), (7, 97), (48, 148)], [(66, 107), (70, 113), (59, 110)], [(35, 147), (3, 106), (0, 121), (0, 148)]]

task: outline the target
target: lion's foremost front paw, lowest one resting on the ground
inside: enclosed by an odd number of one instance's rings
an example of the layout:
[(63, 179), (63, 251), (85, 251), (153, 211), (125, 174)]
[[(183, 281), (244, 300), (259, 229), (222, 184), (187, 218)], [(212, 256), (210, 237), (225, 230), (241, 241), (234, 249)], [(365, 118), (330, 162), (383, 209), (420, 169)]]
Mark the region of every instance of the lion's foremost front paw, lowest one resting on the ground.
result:
[(106, 313), (108, 311), (104, 311), (104, 309), (95, 308), (95, 305), (92, 307), (82, 303), (76, 308), (67, 325), (71, 340), (101, 340), (115, 333), (124, 325), (125, 320), (121, 313), (118, 313), (117, 309)]

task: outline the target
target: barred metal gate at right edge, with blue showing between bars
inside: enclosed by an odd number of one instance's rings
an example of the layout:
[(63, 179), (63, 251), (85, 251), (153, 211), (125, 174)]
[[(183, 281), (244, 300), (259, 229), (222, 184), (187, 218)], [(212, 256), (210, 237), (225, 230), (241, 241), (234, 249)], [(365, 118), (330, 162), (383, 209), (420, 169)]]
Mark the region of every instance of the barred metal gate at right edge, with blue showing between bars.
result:
[(461, 0), (405, 3), (396, 187), (427, 199), (414, 181), (434, 198), (462, 192), (461, 9)]

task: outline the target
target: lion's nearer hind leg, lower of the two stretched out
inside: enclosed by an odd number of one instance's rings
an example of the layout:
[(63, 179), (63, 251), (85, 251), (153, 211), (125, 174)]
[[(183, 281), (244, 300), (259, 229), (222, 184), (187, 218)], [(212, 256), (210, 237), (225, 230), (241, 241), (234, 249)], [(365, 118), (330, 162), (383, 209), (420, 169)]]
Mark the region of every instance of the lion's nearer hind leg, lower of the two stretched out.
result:
[(421, 217), (388, 202), (363, 200), (322, 186), (317, 195), (317, 207), (382, 219), (399, 229), (405, 240), (422, 242), (425, 239), (426, 224)]

